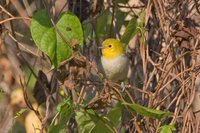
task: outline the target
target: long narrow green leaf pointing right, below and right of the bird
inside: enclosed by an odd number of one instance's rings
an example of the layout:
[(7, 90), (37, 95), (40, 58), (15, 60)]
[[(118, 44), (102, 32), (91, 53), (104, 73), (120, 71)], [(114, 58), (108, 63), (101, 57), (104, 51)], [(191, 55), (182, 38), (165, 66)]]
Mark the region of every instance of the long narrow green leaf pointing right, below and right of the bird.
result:
[(141, 106), (139, 104), (135, 104), (135, 103), (122, 103), (128, 107), (130, 107), (130, 109), (133, 112), (136, 112), (142, 116), (147, 116), (150, 118), (154, 118), (154, 119), (162, 119), (164, 117), (168, 117), (171, 116), (172, 114), (170, 112), (164, 112), (161, 110), (156, 110), (156, 109), (150, 109), (144, 106)]

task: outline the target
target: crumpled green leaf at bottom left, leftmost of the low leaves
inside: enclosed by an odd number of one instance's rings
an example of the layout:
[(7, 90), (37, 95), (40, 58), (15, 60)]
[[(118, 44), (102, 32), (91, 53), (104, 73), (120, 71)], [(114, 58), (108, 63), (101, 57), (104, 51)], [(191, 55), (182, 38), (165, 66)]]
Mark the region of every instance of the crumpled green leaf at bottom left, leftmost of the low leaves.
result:
[(69, 99), (65, 99), (57, 106), (56, 111), (60, 113), (60, 120), (56, 125), (54, 124), (54, 122), (52, 122), (48, 132), (65, 133), (67, 130), (67, 122), (74, 114), (72, 102)]

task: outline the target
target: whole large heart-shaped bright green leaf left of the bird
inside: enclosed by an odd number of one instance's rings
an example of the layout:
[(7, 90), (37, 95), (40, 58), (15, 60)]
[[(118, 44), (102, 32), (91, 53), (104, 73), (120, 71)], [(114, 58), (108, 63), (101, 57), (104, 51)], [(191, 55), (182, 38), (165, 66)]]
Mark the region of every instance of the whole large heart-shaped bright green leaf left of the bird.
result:
[(37, 11), (31, 21), (31, 35), (38, 48), (49, 56), (55, 67), (71, 57), (73, 40), (83, 43), (81, 23), (70, 12), (59, 16), (54, 27), (45, 10)]

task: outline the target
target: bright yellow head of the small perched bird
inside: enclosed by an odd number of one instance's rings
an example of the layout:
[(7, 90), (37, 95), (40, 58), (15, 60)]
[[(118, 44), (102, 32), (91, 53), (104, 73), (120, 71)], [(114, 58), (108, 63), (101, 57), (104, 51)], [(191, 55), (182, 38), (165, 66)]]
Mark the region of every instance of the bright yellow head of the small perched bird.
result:
[(117, 39), (109, 38), (102, 43), (102, 55), (107, 59), (115, 58), (124, 52), (123, 44)]

